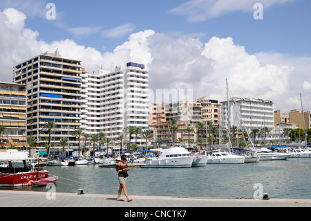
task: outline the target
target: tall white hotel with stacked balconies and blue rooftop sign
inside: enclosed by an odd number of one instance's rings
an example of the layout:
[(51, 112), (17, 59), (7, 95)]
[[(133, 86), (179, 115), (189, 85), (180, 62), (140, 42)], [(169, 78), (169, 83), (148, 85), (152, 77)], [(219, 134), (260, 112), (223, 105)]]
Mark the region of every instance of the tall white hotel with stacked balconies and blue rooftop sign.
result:
[[(127, 126), (148, 130), (148, 71), (129, 62), (114, 72), (82, 73), (82, 127), (117, 140)], [(127, 138), (129, 139), (129, 138)]]

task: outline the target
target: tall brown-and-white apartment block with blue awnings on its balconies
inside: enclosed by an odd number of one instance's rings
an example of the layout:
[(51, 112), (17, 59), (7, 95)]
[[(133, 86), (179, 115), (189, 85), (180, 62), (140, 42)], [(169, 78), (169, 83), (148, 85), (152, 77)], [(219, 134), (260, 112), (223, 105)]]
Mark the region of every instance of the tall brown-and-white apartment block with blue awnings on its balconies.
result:
[(26, 85), (27, 135), (37, 138), (41, 147), (48, 143), (48, 131), (42, 126), (54, 121), (51, 146), (68, 137), (77, 146), (75, 129), (81, 123), (81, 61), (62, 58), (59, 51), (41, 53), (14, 68), (13, 81)]

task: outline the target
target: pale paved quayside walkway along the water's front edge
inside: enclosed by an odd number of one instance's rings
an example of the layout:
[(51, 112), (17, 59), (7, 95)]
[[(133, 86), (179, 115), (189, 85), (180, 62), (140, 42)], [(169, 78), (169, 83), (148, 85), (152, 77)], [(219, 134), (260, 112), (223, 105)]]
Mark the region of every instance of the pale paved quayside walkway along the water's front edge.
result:
[[(123, 199), (126, 198), (122, 195)], [(131, 196), (132, 202), (117, 202), (116, 195), (78, 195), (33, 191), (0, 191), (0, 207), (311, 207), (310, 200), (215, 199), (200, 197)]]

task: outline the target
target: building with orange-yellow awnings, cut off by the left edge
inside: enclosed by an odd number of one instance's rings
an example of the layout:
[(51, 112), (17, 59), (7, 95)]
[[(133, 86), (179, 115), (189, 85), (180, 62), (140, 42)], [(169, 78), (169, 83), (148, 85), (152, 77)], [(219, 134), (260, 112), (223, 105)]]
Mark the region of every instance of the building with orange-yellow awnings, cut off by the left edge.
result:
[(0, 148), (26, 148), (26, 86), (0, 82)]

